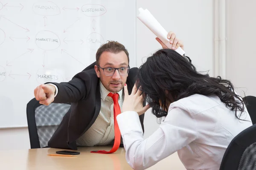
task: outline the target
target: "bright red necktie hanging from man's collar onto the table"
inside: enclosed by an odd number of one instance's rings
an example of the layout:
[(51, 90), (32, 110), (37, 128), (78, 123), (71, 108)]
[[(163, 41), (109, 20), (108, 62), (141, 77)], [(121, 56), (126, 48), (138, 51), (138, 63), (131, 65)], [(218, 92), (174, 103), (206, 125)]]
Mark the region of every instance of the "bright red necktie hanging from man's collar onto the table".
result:
[(115, 141), (112, 149), (110, 151), (105, 150), (96, 150), (91, 151), (91, 153), (113, 153), (116, 152), (116, 150), (119, 148), (120, 141), (121, 141), (121, 133), (116, 121), (116, 116), (121, 113), (120, 106), (118, 104), (118, 94), (109, 93), (108, 96), (111, 96), (114, 101), (114, 126), (115, 126)]

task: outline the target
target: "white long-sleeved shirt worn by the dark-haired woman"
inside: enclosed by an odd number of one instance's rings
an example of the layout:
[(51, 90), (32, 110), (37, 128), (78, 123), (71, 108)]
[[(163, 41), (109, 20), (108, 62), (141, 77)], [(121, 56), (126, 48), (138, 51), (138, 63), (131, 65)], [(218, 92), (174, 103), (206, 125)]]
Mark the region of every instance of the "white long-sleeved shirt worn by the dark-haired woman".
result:
[(247, 109), (240, 119), (247, 121), (237, 119), (217, 96), (199, 94), (173, 102), (160, 127), (145, 140), (136, 112), (117, 116), (126, 160), (135, 170), (151, 167), (176, 151), (188, 170), (218, 170), (234, 136), (252, 125)]

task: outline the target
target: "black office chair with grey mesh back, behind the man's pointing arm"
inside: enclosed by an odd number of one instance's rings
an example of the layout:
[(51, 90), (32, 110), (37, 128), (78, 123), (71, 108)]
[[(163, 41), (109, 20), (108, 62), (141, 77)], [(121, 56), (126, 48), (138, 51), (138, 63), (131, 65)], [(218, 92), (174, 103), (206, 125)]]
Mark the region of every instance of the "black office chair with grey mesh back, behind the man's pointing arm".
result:
[(31, 149), (47, 147), (48, 141), (61, 123), (70, 104), (51, 103), (41, 105), (35, 98), (26, 107)]

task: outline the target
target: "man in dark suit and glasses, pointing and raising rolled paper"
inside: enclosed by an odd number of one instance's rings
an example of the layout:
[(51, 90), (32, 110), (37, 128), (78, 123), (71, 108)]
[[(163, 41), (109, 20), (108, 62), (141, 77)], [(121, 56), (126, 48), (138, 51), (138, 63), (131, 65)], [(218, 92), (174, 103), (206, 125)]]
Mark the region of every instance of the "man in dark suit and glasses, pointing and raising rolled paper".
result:
[[(173, 49), (179, 46), (183, 48), (174, 33), (169, 32), (168, 37)], [(161, 40), (156, 39), (166, 48)], [(77, 146), (108, 145), (114, 142), (119, 147), (120, 142), (116, 142), (115, 137), (114, 110), (122, 108), (123, 87), (127, 84), (128, 92), (131, 93), (137, 72), (138, 68), (129, 67), (129, 54), (124, 45), (110, 41), (98, 49), (96, 62), (69, 82), (45, 83), (35, 88), (35, 98), (41, 104), (71, 103), (48, 146), (77, 150)], [(118, 103), (117, 99), (114, 103), (114, 98), (109, 94), (118, 94)], [(144, 114), (140, 115), (144, 132), (143, 119)]]

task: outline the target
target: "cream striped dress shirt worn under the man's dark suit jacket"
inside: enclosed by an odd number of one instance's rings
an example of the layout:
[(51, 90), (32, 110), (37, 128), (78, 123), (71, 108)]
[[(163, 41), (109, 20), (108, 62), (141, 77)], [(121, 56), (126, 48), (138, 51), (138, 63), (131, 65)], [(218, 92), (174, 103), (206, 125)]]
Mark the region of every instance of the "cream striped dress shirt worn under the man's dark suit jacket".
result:
[[(53, 85), (53, 84), (48, 84)], [(54, 85), (55, 86), (55, 85)], [(56, 88), (56, 94), (58, 94), (58, 88)], [(99, 116), (96, 118), (93, 125), (79, 138), (76, 140), (78, 146), (97, 146), (97, 145), (108, 145), (113, 144), (115, 138), (114, 131), (114, 102), (112, 97), (108, 96), (110, 93), (100, 81), (100, 96), (101, 96), (101, 108)], [(123, 95), (122, 90), (118, 92), (118, 103), (122, 111)], [(84, 111), (86, 114), (86, 111)], [(122, 141), (121, 141), (122, 142)]]

